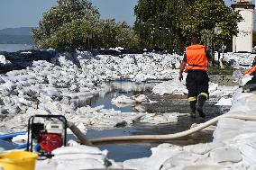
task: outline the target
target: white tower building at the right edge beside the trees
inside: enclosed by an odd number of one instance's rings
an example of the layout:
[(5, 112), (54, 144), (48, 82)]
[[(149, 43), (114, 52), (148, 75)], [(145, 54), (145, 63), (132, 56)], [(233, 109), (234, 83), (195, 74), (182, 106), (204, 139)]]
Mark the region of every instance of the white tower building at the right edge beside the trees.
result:
[(236, 0), (231, 4), (234, 11), (242, 15), (242, 22), (238, 23), (239, 33), (233, 37), (233, 52), (252, 52), (253, 0)]

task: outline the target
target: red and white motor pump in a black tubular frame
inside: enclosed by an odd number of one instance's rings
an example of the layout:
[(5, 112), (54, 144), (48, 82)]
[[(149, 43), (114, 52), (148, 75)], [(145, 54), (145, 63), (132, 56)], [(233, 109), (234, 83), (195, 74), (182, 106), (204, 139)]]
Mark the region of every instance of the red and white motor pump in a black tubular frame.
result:
[[(40, 118), (36, 119), (35, 118)], [(67, 143), (68, 122), (62, 115), (34, 115), (28, 122), (27, 150), (51, 157), (51, 152)], [(35, 145), (36, 143), (36, 145)]]

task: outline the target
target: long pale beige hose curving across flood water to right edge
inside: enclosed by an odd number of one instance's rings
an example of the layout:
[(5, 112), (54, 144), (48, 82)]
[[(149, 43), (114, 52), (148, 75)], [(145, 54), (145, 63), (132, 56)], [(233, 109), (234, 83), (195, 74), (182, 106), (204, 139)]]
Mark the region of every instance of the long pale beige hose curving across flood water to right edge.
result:
[(133, 141), (133, 140), (169, 140), (169, 139), (178, 139), (180, 137), (185, 137), (192, 133), (195, 133), (199, 130), (203, 130), (206, 127), (215, 124), (222, 118), (233, 118), (244, 121), (256, 121), (256, 116), (248, 115), (248, 114), (231, 114), (225, 113), (221, 116), (215, 117), (210, 121), (206, 121), (205, 123), (199, 124), (197, 127), (192, 128), (190, 130), (178, 132), (175, 134), (167, 134), (167, 135), (134, 135), (134, 136), (121, 136), (121, 137), (108, 137), (102, 139), (90, 139), (89, 141), (93, 144), (104, 143), (104, 142), (117, 142), (117, 141)]

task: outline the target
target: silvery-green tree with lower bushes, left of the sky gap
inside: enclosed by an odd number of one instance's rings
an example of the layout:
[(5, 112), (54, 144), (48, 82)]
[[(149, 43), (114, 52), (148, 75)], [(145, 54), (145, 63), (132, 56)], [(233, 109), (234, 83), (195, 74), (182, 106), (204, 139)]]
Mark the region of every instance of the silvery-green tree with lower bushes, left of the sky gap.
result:
[[(100, 13), (87, 0), (59, 0), (43, 14), (32, 37), (40, 48), (76, 49), (136, 48), (138, 38), (125, 22), (100, 20)], [(133, 42), (133, 43), (131, 43)]]

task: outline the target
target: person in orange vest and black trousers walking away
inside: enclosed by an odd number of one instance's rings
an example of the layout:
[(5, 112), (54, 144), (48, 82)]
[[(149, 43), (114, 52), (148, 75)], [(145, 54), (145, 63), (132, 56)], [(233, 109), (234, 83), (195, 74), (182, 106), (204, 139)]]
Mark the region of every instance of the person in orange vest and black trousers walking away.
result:
[(187, 98), (190, 104), (190, 116), (192, 118), (196, 118), (196, 110), (199, 116), (202, 118), (206, 117), (205, 112), (203, 112), (203, 106), (209, 98), (209, 77), (206, 70), (207, 63), (210, 60), (212, 60), (210, 51), (205, 46), (200, 45), (196, 37), (193, 37), (191, 46), (186, 48), (178, 76), (179, 81), (181, 81), (183, 79), (182, 73), (186, 68)]

